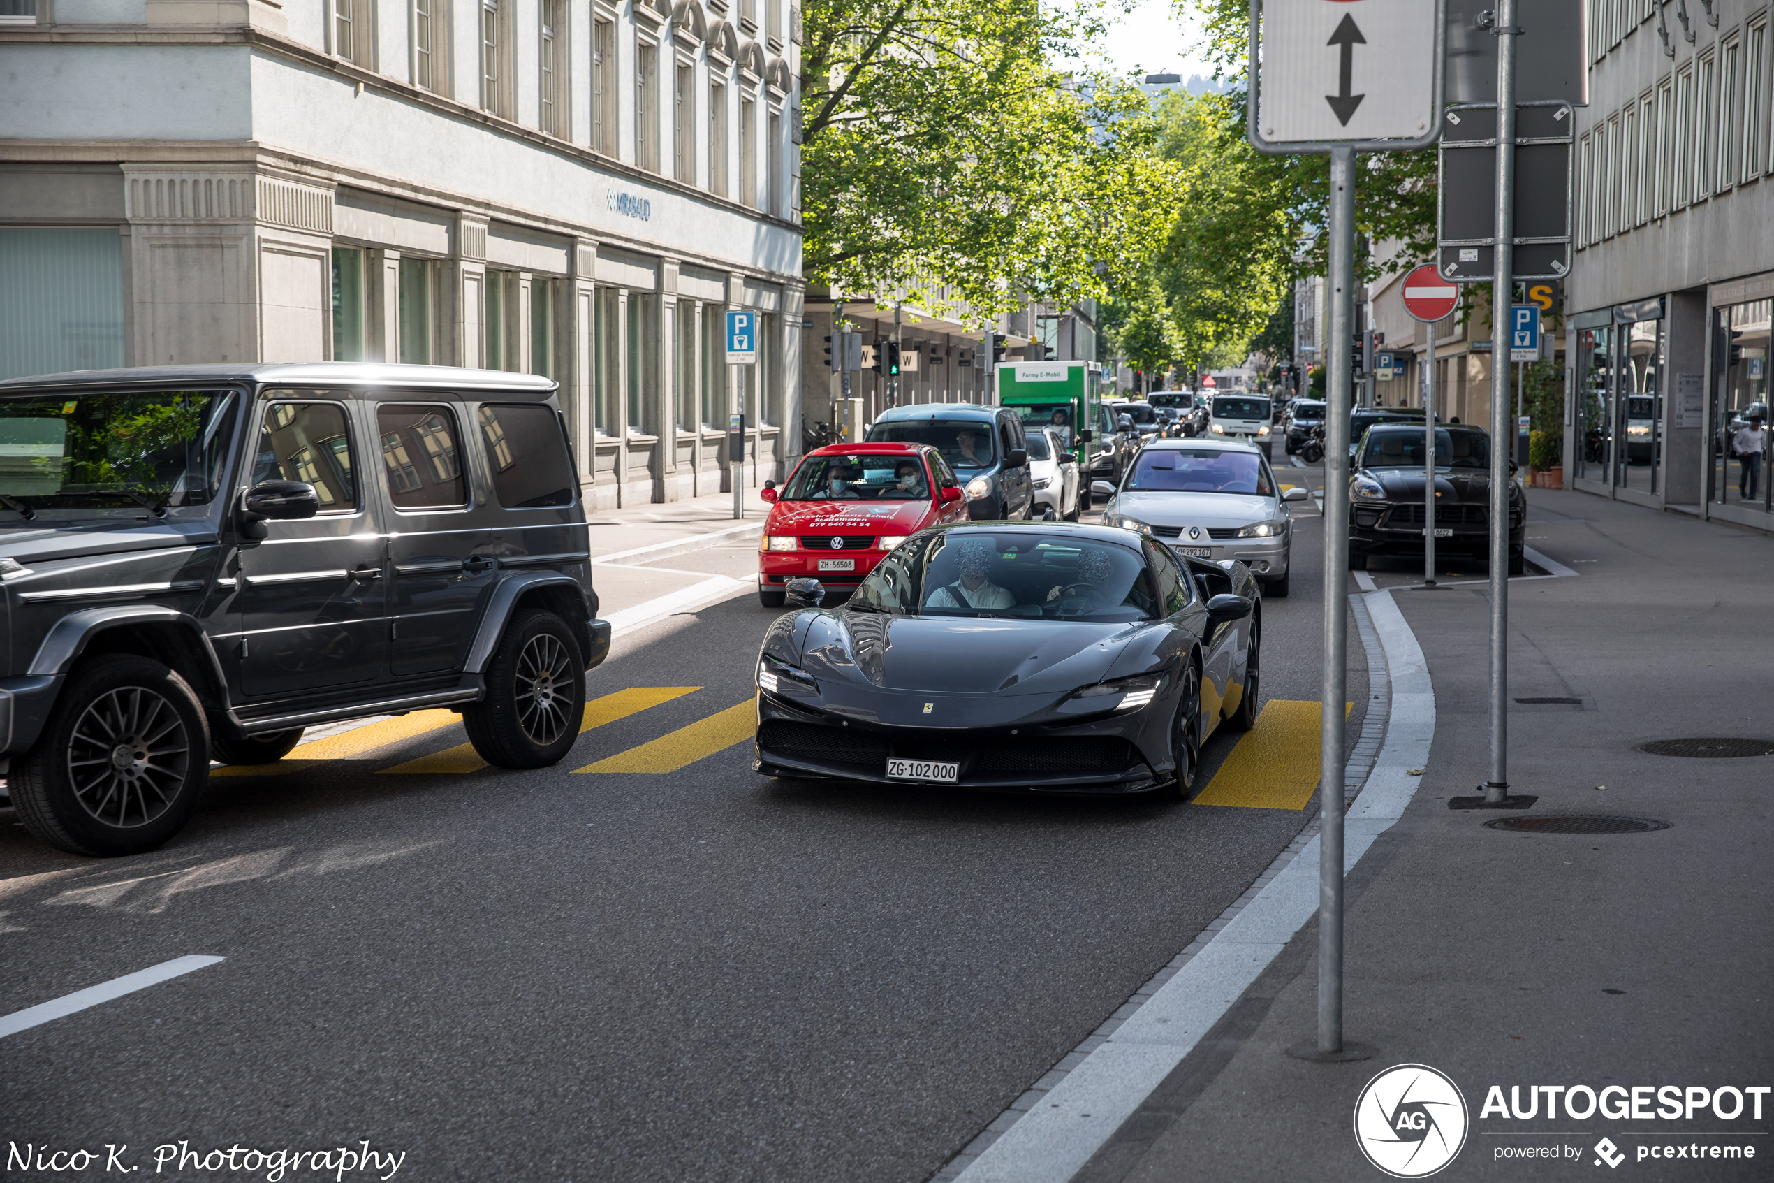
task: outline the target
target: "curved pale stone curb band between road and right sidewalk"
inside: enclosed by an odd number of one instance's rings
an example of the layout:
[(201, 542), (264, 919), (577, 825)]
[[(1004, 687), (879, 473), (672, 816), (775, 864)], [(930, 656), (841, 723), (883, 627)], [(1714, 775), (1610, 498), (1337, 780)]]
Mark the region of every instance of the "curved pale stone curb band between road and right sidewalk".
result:
[[(1366, 596), (1385, 656), (1385, 741), (1343, 832), (1343, 869), (1389, 830), (1421, 784), (1435, 738), (1435, 690), (1423, 647), (1389, 591)], [(956, 1183), (1066, 1183), (1139, 1109), (1318, 910), (1318, 837)]]

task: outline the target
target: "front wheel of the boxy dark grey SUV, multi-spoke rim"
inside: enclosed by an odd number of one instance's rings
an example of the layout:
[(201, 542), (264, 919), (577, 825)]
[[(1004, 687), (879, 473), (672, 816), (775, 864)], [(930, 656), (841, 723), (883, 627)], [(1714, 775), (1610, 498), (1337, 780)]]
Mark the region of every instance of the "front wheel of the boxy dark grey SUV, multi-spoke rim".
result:
[(138, 855), (190, 818), (209, 773), (209, 727), (160, 662), (82, 662), (9, 787), (25, 828), (75, 855)]

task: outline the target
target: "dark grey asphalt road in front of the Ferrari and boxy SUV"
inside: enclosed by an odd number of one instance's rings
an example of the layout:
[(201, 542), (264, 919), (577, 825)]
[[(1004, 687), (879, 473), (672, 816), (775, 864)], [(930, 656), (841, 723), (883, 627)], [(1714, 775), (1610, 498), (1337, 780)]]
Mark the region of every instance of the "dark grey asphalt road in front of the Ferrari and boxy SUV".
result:
[[(1302, 509), (1265, 701), (1318, 697)], [(660, 566), (743, 576), (752, 546)], [(463, 741), (424, 731), (215, 779), (176, 841), (106, 862), (0, 812), (0, 1015), (225, 958), (0, 1039), (0, 1140), (128, 1142), (137, 1174), (165, 1142), (369, 1140), (419, 1179), (917, 1183), (1309, 816), (766, 780), (718, 738), (676, 772), (573, 772), (681, 727), (708, 745), (772, 619), (747, 594), (619, 639), (593, 697), (694, 690), (557, 768), (378, 772)]]

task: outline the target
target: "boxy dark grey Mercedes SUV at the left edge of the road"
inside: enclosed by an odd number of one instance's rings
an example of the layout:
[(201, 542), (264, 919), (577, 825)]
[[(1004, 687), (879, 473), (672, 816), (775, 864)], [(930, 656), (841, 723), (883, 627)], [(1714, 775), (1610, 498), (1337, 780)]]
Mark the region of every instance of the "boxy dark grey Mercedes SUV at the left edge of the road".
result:
[(209, 761), (461, 711), (491, 764), (578, 738), (610, 649), (555, 383), (433, 365), (0, 381), (0, 768), (82, 855), (151, 850)]

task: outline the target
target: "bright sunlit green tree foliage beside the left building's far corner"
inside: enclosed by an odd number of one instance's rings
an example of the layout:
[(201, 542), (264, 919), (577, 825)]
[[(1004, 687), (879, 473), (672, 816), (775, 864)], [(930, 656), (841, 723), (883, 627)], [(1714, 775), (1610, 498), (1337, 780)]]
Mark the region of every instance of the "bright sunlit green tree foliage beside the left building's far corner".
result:
[(1050, 60), (1093, 9), (812, 0), (804, 11), (807, 278), (979, 319), (1134, 282), (1174, 211), (1144, 96)]

